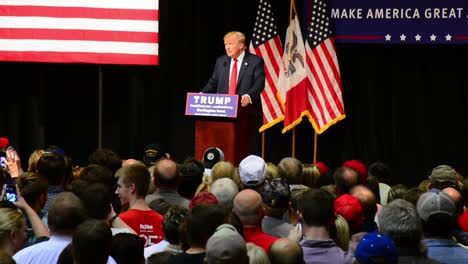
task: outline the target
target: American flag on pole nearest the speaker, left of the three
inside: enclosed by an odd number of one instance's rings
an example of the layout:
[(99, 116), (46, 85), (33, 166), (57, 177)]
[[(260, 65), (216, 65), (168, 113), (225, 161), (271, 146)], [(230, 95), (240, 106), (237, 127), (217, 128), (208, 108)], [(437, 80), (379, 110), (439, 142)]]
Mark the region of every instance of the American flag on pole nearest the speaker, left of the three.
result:
[(260, 0), (258, 5), (249, 51), (262, 57), (265, 61), (265, 89), (261, 94), (263, 126), (260, 128), (260, 132), (262, 132), (284, 119), (283, 110), (277, 98), (278, 89), (276, 87), (283, 47), (271, 4), (268, 0)]

